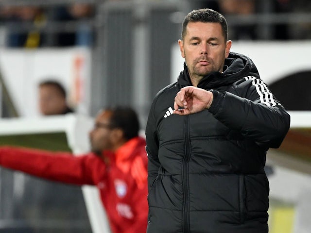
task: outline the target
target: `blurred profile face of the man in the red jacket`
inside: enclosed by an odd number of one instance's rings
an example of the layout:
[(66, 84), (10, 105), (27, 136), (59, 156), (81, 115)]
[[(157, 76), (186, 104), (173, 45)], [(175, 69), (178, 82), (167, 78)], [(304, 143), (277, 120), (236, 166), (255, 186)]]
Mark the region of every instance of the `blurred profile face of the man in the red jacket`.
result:
[(89, 133), (92, 152), (100, 155), (103, 150), (111, 150), (113, 142), (111, 138), (110, 111), (100, 112), (96, 119), (93, 130)]

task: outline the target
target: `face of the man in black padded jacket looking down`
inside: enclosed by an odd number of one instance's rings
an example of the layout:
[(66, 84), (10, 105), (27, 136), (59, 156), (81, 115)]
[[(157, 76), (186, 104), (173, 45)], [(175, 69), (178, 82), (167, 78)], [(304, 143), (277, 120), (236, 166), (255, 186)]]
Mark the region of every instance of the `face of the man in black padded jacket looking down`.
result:
[(199, 80), (212, 71), (223, 71), (231, 47), (220, 23), (190, 22), (185, 38), (178, 43), (190, 77)]

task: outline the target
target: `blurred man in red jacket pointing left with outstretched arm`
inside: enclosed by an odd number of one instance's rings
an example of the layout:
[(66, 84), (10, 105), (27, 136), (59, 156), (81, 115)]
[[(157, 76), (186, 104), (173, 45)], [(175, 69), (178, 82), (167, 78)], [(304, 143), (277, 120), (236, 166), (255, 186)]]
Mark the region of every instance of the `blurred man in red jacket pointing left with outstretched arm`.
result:
[(138, 131), (134, 110), (105, 109), (90, 132), (90, 153), (1, 147), (0, 165), (52, 181), (96, 185), (113, 233), (145, 233), (147, 155)]

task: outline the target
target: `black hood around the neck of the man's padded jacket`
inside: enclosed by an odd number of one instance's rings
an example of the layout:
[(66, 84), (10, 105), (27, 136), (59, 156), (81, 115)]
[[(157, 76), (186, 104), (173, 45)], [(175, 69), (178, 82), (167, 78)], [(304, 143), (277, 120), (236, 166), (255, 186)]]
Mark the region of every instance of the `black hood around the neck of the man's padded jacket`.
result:
[[(229, 85), (249, 75), (259, 78), (257, 67), (253, 61), (245, 55), (230, 52), (228, 58), (225, 59), (224, 72), (211, 72), (203, 77), (198, 87), (211, 89)], [(186, 63), (184, 63), (184, 70), (180, 73), (177, 83), (180, 87), (192, 85)]]

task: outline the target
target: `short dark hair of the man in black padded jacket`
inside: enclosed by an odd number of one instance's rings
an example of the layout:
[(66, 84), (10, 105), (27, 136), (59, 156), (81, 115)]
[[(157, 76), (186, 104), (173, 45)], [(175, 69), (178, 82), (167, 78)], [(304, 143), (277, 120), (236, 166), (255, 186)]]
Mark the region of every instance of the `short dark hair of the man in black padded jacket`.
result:
[(184, 19), (181, 38), (184, 39), (187, 33), (187, 25), (188, 23), (194, 22), (203, 22), (203, 23), (220, 23), (223, 29), (223, 35), (225, 37), (225, 41), (227, 41), (227, 21), (225, 17), (217, 11), (212, 9), (199, 9), (191, 11)]

